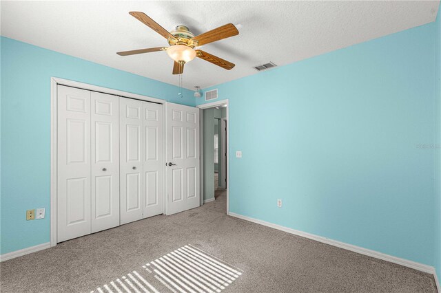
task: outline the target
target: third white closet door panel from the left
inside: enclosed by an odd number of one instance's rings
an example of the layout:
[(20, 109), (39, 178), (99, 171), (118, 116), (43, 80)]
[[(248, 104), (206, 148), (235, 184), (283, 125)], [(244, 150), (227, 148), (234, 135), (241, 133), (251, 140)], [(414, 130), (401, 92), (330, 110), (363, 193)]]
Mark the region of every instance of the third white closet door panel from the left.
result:
[(121, 224), (143, 219), (143, 102), (119, 99)]

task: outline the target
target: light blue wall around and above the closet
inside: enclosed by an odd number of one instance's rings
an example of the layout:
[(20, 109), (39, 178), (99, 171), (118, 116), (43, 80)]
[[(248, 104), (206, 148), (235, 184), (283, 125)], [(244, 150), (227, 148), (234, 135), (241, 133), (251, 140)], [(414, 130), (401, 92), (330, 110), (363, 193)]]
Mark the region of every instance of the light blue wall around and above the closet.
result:
[(50, 241), (51, 76), (194, 105), (192, 91), (1, 37), (1, 254)]

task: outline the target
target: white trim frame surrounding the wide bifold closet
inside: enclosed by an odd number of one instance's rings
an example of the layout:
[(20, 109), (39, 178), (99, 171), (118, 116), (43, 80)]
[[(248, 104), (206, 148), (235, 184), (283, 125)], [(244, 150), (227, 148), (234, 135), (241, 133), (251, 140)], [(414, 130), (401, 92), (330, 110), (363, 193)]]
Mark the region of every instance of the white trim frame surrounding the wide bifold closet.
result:
[[(58, 85), (67, 85), (68, 87), (78, 87), (79, 89), (85, 89), (89, 91), (99, 91), (103, 94), (111, 94), (120, 97), (134, 98), (136, 100), (144, 100), (146, 102), (157, 102), (163, 105), (163, 131), (165, 133), (165, 122), (167, 114), (167, 101), (159, 98), (152, 98), (150, 96), (142, 96), (139, 94), (133, 94), (128, 91), (119, 91), (117, 89), (109, 89), (107, 87), (99, 87), (96, 85), (90, 85), (88, 83), (79, 83), (74, 80), (68, 80), (52, 76), (50, 78), (50, 246), (57, 245), (57, 149), (58, 149)], [(166, 143), (163, 144), (163, 153), (165, 154)], [(163, 155), (163, 164), (165, 164), (165, 155)], [(163, 169), (163, 177), (165, 178), (166, 169)], [(166, 185), (163, 180), (163, 190), (165, 191)], [(167, 197), (163, 197), (163, 213), (167, 210)]]

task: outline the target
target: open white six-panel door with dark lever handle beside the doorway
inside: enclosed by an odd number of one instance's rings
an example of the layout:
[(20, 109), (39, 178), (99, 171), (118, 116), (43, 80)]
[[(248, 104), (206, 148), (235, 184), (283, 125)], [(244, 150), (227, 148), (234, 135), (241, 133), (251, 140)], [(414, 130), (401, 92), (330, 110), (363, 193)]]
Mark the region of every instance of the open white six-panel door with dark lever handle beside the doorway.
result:
[(199, 109), (167, 103), (167, 215), (200, 205)]

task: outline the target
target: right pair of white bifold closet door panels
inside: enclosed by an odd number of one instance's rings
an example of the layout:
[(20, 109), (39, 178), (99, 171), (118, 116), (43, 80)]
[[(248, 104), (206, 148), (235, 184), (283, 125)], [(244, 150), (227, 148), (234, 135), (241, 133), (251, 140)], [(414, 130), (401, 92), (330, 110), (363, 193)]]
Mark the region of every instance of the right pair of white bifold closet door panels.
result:
[(163, 213), (163, 105), (120, 99), (121, 224)]

